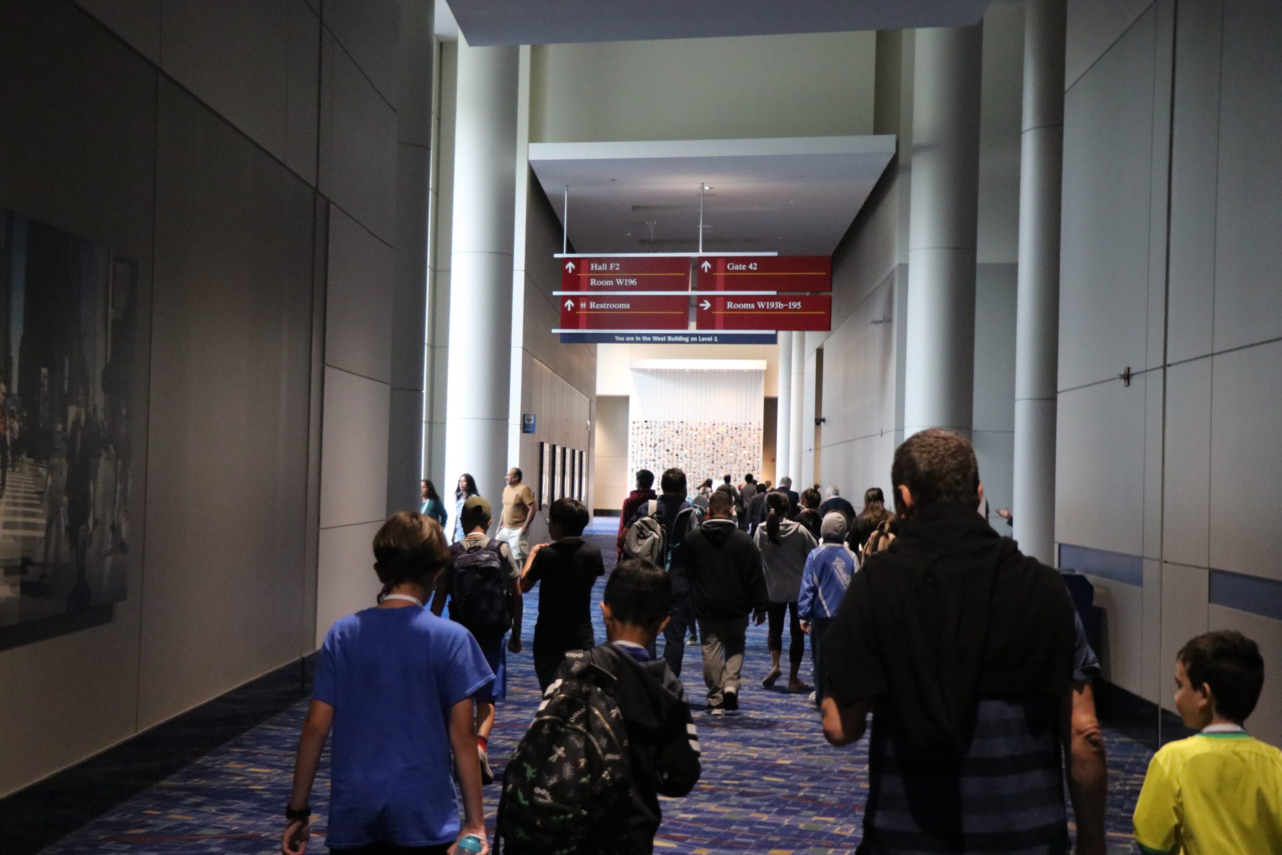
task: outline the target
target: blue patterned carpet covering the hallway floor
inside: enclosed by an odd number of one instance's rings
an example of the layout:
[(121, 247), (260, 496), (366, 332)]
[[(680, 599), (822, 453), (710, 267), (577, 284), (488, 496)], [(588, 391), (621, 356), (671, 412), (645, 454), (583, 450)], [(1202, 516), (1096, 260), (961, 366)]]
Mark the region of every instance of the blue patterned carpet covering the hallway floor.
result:
[[(604, 520), (610, 522), (610, 520)], [(613, 537), (594, 535), (613, 559)], [(595, 601), (600, 600), (597, 587)], [(499, 708), (491, 763), (503, 769), (538, 704), (528, 654), (537, 588), (526, 599), (526, 652), (508, 658), (508, 702)], [(599, 618), (599, 615), (597, 615)], [(597, 641), (604, 629), (597, 626)], [(859, 843), (868, 788), (863, 745), (833, 749), (823, 741), (818, 714), (805, 695), (762, 688), (769, 669), (765, 627), (749, 631), (744, 691), (737, 717), (695, 714), (704, 773), (695, 791), (664, 800), (656, 851), (820, 855), (853, 852)], [(803, 676), (809, 674), (809, 659)], [(703, 706), (699, 650), (687, 646), (683, 681), (691, 706)], [(279, 851), (294, 750), (306, 705), (223, 745), (142, 795), (45, 850), (47, 855), (177, 855)], [(1131, 811), (1151, 752), (1106, 729), (1109, 750), (1110, 852), (1131, 852)], [(309, 851), (326, 852), (328, 763), (317, 779), (313, 809), (320, 819)], [(497, 787), (486, 788), (492, 828)]]

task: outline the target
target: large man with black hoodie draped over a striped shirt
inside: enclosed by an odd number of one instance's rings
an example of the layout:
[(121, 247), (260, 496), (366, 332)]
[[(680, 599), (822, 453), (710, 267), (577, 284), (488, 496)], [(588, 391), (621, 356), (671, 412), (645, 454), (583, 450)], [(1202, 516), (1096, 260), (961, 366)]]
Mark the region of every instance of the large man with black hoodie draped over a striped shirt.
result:
[(976, 513), (964, 437), (912, 436), (891, 483), (899, 537), (851, 578), (823, 638), (824, 736), (855, 742), (873, 714), (859, 851), (1064, 855), (1067, 772), (1076, 851), (1103, 855), (1104, 743), (1064, 582)]

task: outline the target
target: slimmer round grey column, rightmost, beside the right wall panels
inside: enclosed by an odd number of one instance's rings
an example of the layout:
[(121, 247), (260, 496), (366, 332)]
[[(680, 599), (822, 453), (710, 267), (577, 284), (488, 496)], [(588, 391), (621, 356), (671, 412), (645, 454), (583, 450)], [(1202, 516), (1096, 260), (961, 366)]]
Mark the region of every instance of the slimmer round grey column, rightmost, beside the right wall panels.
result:
[(1015, 317), (1015, 540), (1055, 560), (1055, 387), (1059, 370), (1059, 209), (1064, 155), (1064, 4), (1024, 5)]

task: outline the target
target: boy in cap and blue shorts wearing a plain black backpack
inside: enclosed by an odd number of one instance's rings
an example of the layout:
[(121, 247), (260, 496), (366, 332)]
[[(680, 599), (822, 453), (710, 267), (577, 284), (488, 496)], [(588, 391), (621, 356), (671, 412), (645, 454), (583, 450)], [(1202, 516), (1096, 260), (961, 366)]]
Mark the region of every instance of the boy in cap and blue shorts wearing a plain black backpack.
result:
[(490, 731), (494, 728), (494, 706), (508, 696), (504, 636), (512, 629), (506, 649), (520, 652), (520, 568), (506, 544), (486, 536), (490, 528), (490, 502), (469, 496), (463, 502), (459, 522), (467, 537), (450, 547), (451, 561), (436, 583), (432, 611), (440, 615), (450, 600), (450, 619), (463, 624), (481, 645), (495, 679), (476, 693), (477, 754), (481, 758), (481, 782), (494, 783), (490, 768)]

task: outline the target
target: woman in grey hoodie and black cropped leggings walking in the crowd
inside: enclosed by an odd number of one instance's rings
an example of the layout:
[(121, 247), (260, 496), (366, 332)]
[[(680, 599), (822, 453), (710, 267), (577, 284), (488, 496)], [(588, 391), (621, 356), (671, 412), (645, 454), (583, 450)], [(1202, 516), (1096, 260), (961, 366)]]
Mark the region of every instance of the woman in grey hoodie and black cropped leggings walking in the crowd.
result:
[(770, 673), (762, 686), (770, 688), (779, 678), (779, 658), (783, 652), (783, 615), (791, 614), (788, 628), (788, 691), (809, 692), (810, 686), (801, 682), (797, 672), (805, 656), (805, 633), (797, 619), (797, 596), (801, 592), (801, 570), (805, 559), (818, 544), (805, 526), (787, 519), (788, 496), (772, 492), (765, 496), (769, 514), (765, 524), (756, 528), (756, 549), (762, 552), (765, 568), (765, 588), (770, 596)]

